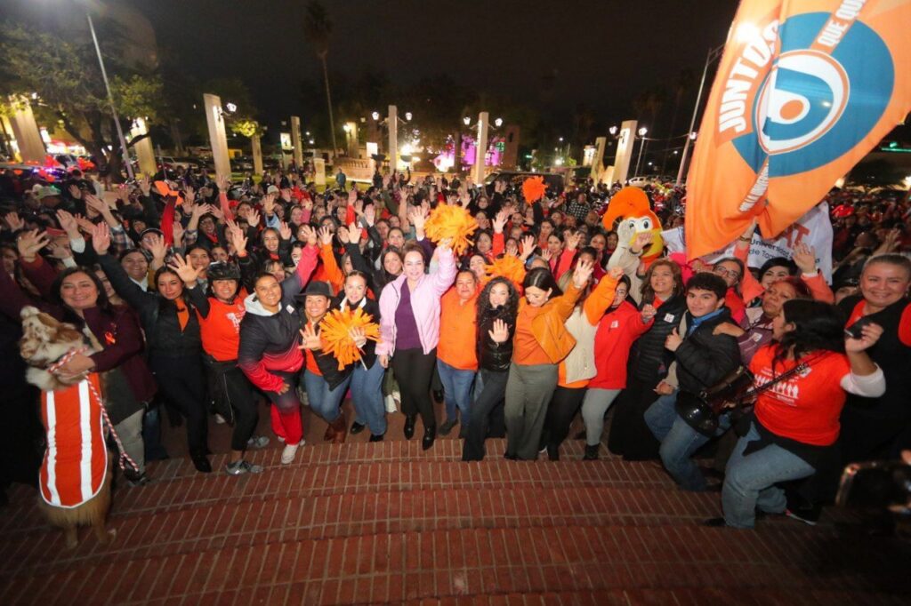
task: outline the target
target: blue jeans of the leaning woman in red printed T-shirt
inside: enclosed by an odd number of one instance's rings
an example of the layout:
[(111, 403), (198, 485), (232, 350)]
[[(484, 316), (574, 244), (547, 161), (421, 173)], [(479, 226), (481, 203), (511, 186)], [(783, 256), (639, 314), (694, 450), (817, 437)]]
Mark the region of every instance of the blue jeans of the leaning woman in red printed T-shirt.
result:
[(816, 471), (805, 460), (776, 444), (744, 457), (746, 445), (756, 439), (759, 431), (753, 421), (750, 431), (737, 441), (724, 474), (724, 521), (734, 528), (752, 528), (757, 508), (766, 513), (783, 513), (787, 499), (784, 490), (775, 484), (800, 480)]

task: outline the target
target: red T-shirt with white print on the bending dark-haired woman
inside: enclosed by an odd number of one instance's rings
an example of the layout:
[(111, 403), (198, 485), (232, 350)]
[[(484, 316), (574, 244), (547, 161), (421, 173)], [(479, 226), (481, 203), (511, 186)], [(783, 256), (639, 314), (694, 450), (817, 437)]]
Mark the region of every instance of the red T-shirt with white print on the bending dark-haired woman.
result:
[[(778, 361), (773, 376), (774, 355), (774, 346), (767, 345), (752, 357), (750, 370), (757, 385), (764, 385), (797, 366), (794, 360)], [(777, 436), (814, 446), (829, 446), (838, 438), (838, 417), (847, 399), (841, 383), (850, 373), (847, 356), (834, 352), (824, 354), (822, 358), (814, 359), (804, 372), (763, 391), (756, 400), (756, 419)]]

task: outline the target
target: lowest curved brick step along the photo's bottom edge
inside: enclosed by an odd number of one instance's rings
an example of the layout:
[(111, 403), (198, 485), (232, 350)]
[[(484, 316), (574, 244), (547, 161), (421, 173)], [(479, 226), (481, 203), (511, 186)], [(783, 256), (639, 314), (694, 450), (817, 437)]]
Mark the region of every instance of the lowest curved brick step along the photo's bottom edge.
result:
[(236, 603), (287, 597), (328, 604), (609, 589), (813, 590), (843, 597), (842, 591), (903, 591), (905, 564), (880, 547), (864, 540), (846, 546), (832, 533), (783, 526), (754, 532), (568, 526), (363, 534), (78, 563), (17, 575), (0, 602), (199, 604), (234, 592)]

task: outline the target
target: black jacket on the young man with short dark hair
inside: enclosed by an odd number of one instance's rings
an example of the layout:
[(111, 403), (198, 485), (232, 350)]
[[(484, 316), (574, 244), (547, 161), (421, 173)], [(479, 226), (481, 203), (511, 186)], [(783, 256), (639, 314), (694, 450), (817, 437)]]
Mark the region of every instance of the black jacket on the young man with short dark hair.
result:
[[(662, 306), (663, 307), (663, 306)], [(687, 326), (692, 317), (686, 314)], [(730, 335), (713, 335), (712, 330), (722, 322), (733, 323), (731, 311), (722, 308), (722, 313), (702, 322), (683, 338), (681, 346), (674, 352), (677, 361), (677, 380), (684, 391), (699, 393), (711, 388), (726, 374), (741, 364), (740, 347), (737, 339)]]

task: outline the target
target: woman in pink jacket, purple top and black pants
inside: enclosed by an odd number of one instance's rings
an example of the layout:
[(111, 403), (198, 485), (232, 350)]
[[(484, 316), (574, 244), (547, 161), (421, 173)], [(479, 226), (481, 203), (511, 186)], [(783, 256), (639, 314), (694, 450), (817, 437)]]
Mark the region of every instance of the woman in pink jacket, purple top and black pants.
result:
[(387, 284), (380, 295), (380, 342), (376, 354), (383, 368), (392, 359), (395, 379), (402, 391), (404, 437), (415, 435), (415, 419), (424, 421), (422, 446), (429, 449), (436, 438), (430, 380), (434, 374), (436, 344), (440, 340), (440, 298), (455, 279), (455, 257), (449, 241), (435, 252), (439, 267), (427, 274), (423, 247), (407, 243), (404, 272)]

